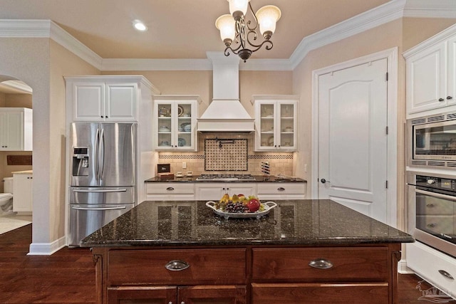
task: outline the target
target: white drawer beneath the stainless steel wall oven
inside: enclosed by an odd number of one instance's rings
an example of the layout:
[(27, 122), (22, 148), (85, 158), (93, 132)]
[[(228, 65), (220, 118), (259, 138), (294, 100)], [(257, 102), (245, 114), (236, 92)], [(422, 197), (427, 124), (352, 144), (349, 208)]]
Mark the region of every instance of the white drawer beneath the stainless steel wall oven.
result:
[(405, 244), (405, 250), (409, 268), (447, 295), (456, 298), (456, 258), (420, 242)]

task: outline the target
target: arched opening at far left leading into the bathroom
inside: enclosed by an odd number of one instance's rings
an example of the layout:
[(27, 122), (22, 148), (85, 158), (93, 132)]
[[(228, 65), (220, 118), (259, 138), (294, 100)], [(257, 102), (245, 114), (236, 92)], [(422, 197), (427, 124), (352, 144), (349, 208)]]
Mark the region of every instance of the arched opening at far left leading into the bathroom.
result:
[(31, 87), (0, 75), (0, 193), (13, 192), (0, 203), (0, 234), (32, 221), (32, 108)]

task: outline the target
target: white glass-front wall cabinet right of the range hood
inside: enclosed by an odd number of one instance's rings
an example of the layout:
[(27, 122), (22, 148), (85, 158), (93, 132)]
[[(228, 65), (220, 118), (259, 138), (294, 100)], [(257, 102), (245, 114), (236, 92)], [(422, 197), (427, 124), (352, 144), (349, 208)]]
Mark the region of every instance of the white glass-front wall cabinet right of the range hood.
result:
[(255, 151), (296, 151), (298, 95), (254, 95)]

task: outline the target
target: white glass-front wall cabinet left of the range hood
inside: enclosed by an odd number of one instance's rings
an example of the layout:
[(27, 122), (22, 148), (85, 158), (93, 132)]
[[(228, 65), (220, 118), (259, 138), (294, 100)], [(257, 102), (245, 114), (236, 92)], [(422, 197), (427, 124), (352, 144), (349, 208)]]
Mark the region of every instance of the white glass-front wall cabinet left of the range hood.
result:
[(155, 95), (153, 143), (155, 150), (197, 150), (198, 95)]

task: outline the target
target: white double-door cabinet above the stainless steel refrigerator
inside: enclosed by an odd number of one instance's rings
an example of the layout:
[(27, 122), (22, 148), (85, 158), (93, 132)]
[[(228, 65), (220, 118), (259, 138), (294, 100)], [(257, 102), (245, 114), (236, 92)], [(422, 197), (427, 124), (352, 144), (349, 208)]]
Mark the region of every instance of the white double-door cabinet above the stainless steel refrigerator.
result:
[(141, 85), (138, 76), (66, 77), (66, 98), (72, 107), (71, 121), (137, 122)]

